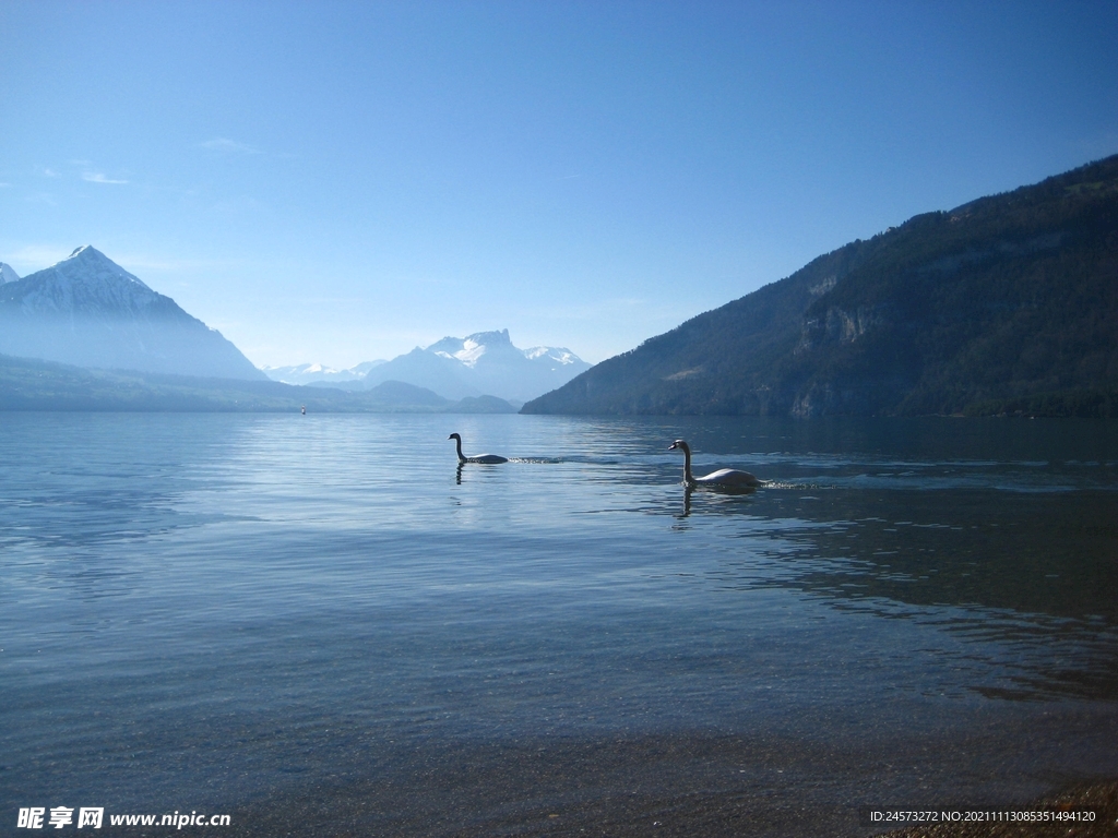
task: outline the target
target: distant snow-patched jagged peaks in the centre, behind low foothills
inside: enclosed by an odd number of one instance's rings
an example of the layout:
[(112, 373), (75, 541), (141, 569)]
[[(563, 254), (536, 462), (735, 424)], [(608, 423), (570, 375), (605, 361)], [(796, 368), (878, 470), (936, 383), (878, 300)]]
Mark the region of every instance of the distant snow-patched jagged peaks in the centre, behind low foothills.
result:
[(349, 370), (303, 364), (265, 366), (264, 371), (275, 381), (293, 384), (358, 390), (386, 381), (404, 381), (448, 399), (489, 394), (523, 402), (561, 387), (588, 369), (590, 364), (568, 349), (517, 349), (505, 328), (467, 337), (444, 337), (391, 361), (368, 361)]

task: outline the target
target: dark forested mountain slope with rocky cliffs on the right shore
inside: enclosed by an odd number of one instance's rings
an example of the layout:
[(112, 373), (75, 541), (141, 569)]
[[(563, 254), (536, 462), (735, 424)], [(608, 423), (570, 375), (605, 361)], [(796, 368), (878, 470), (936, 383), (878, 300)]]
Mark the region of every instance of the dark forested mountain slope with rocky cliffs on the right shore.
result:
[(525, 413), (1101, 415), (1118, 396), (1118, 155), (821, 256)]

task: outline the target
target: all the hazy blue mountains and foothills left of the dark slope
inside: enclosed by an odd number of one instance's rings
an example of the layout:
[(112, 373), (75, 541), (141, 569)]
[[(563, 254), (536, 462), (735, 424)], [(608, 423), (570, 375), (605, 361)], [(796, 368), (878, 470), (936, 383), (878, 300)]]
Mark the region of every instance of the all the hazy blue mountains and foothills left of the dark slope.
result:
[[(89, 246), (22, 278), (0, 263), (0, 409), (271, 410), (297, 401), (316, 410), (510, 412), (502, 396), (519, 407), (589, 368), (569, 350), (519, 350), (505, 330), (445, 337), (350, 370), (304, 364), (265, 374), (219, 332)], [(246, 391), (221, 383), (271, 385), (269, 378), (285, 384)], [(321, 392), (329, 388), (337, 392)]]

